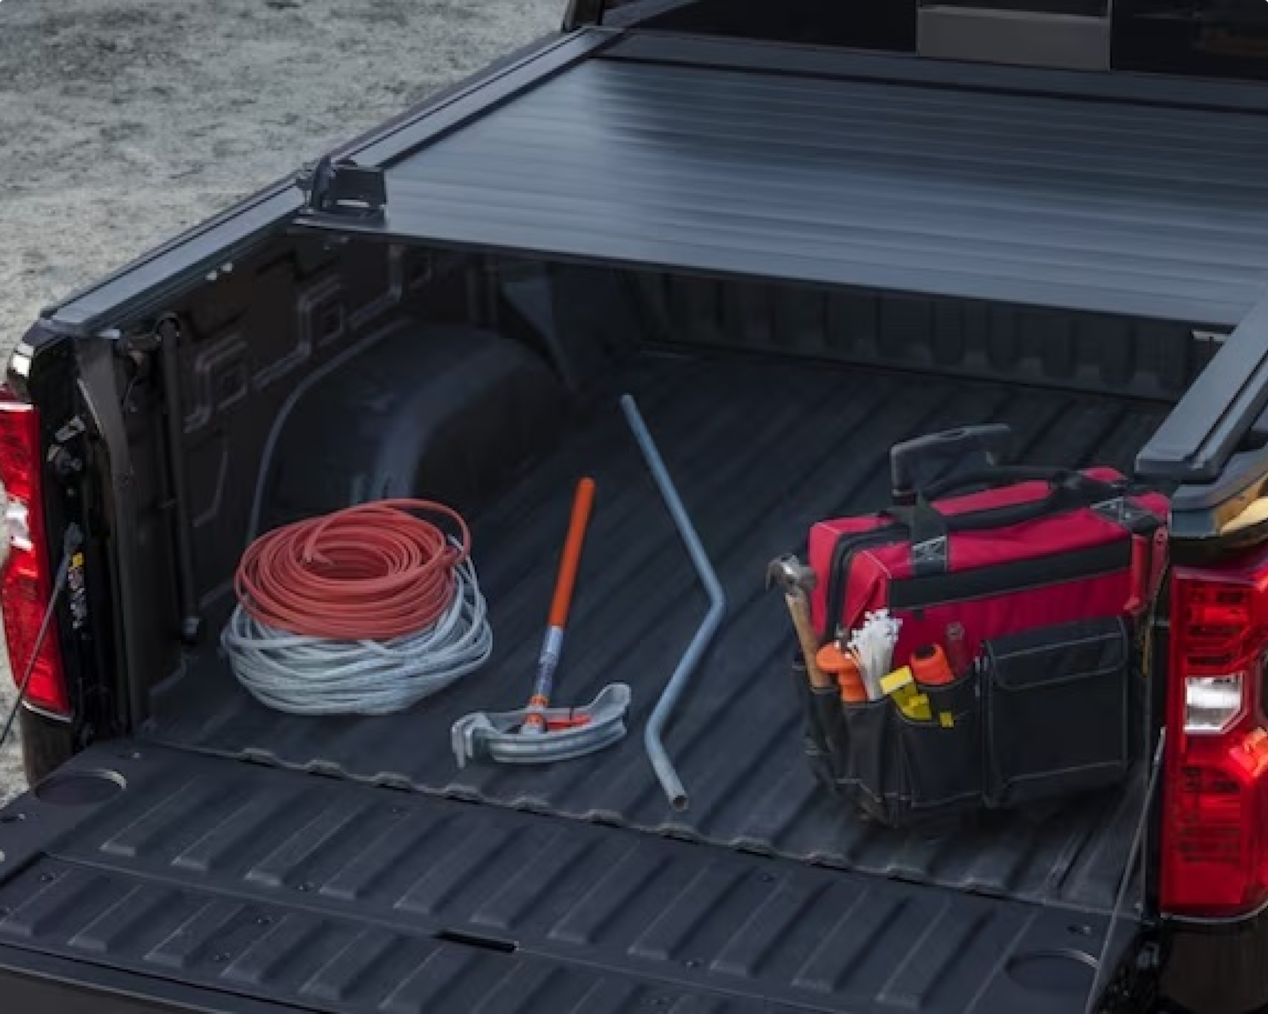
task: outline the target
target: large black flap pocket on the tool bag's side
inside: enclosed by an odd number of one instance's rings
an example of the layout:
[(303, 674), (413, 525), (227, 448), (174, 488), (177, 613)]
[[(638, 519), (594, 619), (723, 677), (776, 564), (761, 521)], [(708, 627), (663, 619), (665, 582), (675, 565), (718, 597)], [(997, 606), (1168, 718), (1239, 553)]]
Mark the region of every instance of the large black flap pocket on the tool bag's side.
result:
[(985, 801), (1008, 807), (1120, 782), (1131, 763), (1122, 617), (984, 645)]

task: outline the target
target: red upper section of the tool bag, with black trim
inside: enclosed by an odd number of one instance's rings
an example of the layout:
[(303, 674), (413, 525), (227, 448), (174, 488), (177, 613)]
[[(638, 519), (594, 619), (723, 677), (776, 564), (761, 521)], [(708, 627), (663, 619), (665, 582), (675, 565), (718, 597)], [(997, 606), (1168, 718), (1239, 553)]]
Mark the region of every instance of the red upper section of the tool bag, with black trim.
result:
[(895, 657), (907, 658), (952, 621), (976, 654), (1003, 634), (1136, 613), (1159, 572), (1167, 511), (1164, 496), (1131, 496), (1108, 468), (954, 477), (912, 506), (817, 523), (812, 616), (827, 640), (889, 608), (903, 621)]

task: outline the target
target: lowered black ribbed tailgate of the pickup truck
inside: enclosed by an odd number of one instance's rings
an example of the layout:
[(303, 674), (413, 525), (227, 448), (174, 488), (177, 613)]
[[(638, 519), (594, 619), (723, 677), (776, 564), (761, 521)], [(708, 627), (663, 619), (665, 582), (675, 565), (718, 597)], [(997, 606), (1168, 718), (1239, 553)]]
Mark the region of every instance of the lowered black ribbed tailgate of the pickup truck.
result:
[(153, 747), (0, 821), (0, 973), (71, 958), (218, 1010), (1070, 1011), (1107, 927)]

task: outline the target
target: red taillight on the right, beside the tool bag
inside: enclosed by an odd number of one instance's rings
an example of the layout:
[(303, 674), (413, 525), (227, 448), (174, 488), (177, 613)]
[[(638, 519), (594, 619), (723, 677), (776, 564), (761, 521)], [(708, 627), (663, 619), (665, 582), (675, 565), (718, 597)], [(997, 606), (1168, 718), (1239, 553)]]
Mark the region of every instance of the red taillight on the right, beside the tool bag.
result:
[(1163, 787), (1163, 910), (1243, 915), (1268, 902), (1268, 551), (1177, 567)]

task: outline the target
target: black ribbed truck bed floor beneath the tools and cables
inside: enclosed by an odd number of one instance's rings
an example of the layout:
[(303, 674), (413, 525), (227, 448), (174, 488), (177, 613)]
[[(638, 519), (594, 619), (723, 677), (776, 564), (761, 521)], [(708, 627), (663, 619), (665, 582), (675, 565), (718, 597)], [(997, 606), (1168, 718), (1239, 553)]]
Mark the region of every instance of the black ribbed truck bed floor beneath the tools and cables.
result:
[[(618, 383), (619, 382), (619, 383)], [(730, 600), (706, 664), (668, 730), (692, 797), (673, 812), (645, 760), (642, 730), (700, 622), (704, 593), (615, 407), (640, 399)], [(1106, 911), (1122, 873), (1139, 786), (1063, 811), (936, 835), (860, 823), (815, 788), (800, 753), (791, 634), (762, 587), (766, 562), (804, 544), (817, 518), (875, 508), (886, 449), (913, 433), (1004, 420), (1027, 458), (1130, 463), (1164, 408), (918, 374), (770, 361), (647, 356), (559, 454), (477, 520), (474, 555), (491, 602), (491, 667), (412, 712), (304, 720), (257, 705), (205, 650), (156, 695), (146, 735), (166, 744), (676, 838)], [(459, 771), (449, 726), (476, 710), (522, 706), (554, 556), (578, 475), (598, 483), (558, 700), (607, 682), (634, 690), (634, 733), (573, 764)]]

